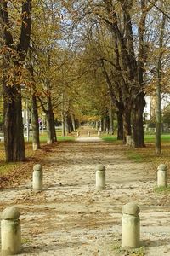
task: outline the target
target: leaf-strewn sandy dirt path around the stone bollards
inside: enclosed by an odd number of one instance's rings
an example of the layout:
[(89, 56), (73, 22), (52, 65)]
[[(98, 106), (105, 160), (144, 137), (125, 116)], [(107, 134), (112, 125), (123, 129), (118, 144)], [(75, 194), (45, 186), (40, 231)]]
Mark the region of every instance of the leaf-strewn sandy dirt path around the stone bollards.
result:
[[(106, 189), (95, 191), (95, 170), (106, 167)], [(20, 255), (143, 255), (119, 249), (122, 205), (140, 207), (145, 255), (170, 255), (170, 204), (157, 195), (156, 172), (133, 163), (122, 145), (100, 141), (58, 143), (43, 163), (44, 190), (35, 193), (31, 178), (18, 189), (3, 189), (0, 209), (20, 208)]]

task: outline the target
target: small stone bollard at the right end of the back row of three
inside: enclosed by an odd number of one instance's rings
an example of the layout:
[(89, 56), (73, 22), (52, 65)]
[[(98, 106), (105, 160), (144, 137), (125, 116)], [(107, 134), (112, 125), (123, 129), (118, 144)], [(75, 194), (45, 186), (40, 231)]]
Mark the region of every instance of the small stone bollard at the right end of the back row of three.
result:
[(167, 166), (164, 164), (157, 167), (157, 186), (167, 187)]

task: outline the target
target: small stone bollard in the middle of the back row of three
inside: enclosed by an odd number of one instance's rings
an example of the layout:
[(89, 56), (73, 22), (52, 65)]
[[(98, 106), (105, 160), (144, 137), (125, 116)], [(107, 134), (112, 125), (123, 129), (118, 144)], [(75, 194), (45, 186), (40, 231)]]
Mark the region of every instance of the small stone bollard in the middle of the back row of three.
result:
[(96, 170), (96, 189), (105, 189), (105, 166), (99, 165)]

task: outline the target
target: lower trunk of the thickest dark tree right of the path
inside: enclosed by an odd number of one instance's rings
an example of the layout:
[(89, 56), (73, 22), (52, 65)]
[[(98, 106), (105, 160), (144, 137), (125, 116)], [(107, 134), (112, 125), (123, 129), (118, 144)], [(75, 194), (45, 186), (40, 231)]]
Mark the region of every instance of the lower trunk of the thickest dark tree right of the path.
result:
[(135, 148), (144, 148), (144, 92), (141, 92), (133, 103), (133, 141)]

